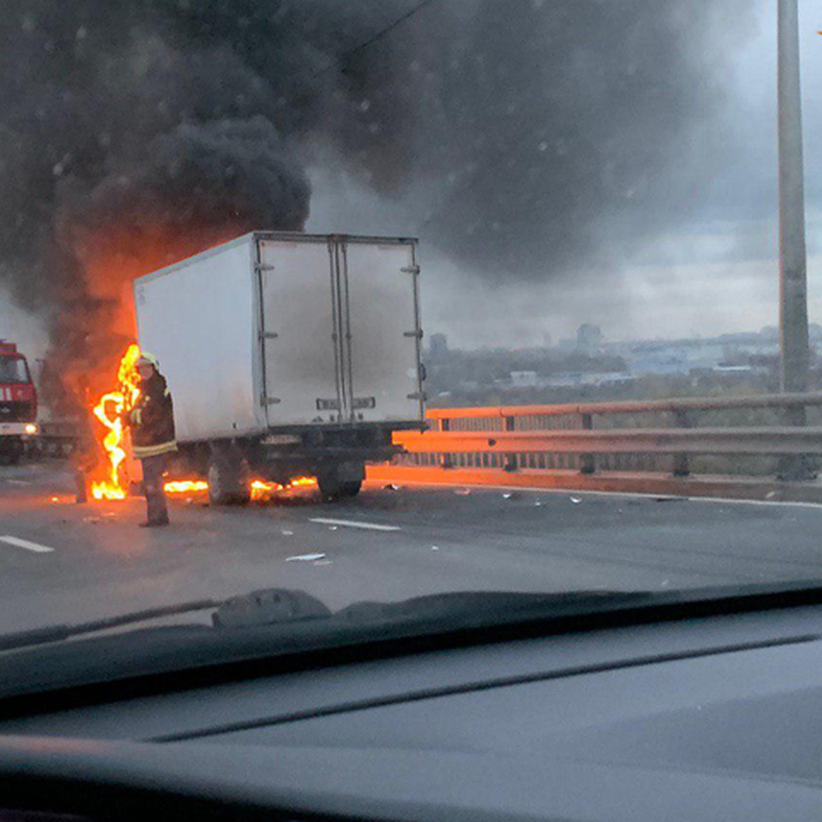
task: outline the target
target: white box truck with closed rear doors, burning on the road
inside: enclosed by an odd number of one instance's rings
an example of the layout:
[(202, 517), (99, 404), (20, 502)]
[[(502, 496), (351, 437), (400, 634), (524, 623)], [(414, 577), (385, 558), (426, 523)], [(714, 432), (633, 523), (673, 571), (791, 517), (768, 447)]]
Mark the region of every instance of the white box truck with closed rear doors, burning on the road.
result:
[(172, 473), (215, 504), (247, 479), (359, 491), (368, 460), (423, 427), (417, 242), (254, 232), (134, 284), (137, 335), (169, 381)]

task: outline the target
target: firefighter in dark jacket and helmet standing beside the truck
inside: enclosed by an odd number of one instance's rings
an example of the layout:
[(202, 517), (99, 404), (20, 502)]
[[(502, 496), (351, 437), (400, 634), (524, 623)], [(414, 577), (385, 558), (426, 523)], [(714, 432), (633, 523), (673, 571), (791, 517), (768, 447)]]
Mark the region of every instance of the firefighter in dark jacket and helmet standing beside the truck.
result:
[(155, 528), (169, 524), (163, 474), (168, 455), (177, 450), (174, 410), (171, 391), (159, 372), (157, 358), (142, 352), (136, 369), (140, 375), (140, 397), (127, 413), (127, 424), (132, 429), (132, 451), (143, 466), (146, 518), (141, 528)]

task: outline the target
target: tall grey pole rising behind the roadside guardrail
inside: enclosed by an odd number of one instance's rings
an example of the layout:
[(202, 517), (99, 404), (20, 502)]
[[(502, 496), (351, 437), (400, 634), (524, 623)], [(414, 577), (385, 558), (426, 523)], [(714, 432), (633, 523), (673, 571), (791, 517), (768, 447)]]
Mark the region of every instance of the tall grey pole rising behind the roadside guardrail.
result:
[(797, 0), (778, 0), (778, 15), (779, 377), (783, 392), (801, 392), (809, 345)]

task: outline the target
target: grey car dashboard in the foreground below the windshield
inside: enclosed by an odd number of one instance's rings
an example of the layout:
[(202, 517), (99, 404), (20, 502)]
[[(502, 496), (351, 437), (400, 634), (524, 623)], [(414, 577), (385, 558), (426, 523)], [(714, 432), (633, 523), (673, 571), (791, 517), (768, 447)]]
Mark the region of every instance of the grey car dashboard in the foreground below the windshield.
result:
[(112, 686), (0, 722), (0, 820), (819, 819), (820, 636), (809, 606)]

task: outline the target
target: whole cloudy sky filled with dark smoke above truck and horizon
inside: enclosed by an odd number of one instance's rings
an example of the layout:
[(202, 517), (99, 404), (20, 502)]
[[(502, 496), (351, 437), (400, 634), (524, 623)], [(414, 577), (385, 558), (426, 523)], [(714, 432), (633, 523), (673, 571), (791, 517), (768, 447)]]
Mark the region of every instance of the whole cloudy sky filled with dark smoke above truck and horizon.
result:
[(774, 323), (775, 6), (6, 0), (0, 284), (77, 362), (133, 275), (254, 228), (418, 234), (457, 344)]

